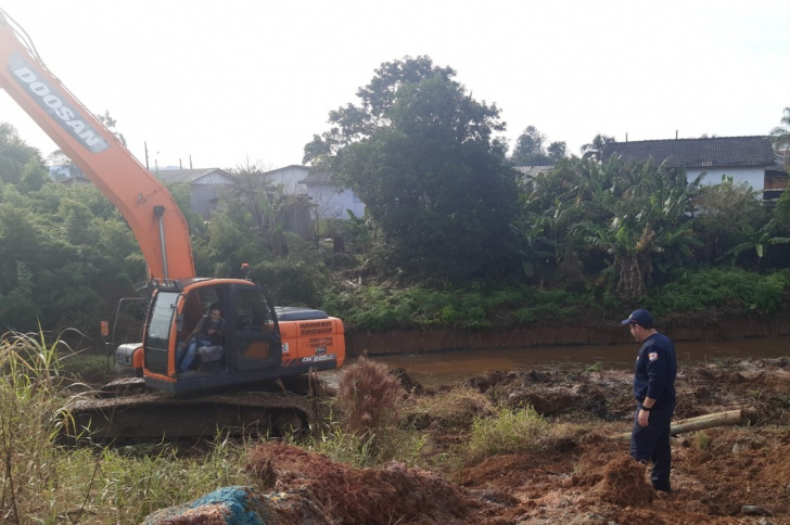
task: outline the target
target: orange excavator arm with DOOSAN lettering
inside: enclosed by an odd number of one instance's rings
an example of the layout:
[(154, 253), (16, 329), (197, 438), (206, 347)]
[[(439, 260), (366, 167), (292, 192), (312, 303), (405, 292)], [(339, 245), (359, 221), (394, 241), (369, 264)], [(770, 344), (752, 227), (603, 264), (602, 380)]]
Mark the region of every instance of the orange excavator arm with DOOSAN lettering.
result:
[(170, 192), (44, 66), (11, 22), (0, 9), (0, 88), (120, 210), (152, 279), (194, 278), (189, 227)]

